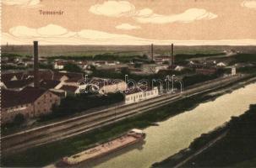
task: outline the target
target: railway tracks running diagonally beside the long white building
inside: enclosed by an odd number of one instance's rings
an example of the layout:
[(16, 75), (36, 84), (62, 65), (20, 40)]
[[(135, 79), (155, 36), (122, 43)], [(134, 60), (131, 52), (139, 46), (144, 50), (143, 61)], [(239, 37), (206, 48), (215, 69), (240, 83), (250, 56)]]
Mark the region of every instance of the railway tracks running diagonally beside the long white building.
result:
[(9, 155), (13, 152), (26, 150), (41, 144), (67, 139), (74, 135), (82, 134), (110, 123), (115, 123), (124, 118), (165, 106), (170, 102), (181, 100), (183, 97), (192, 97), (199, 93), (223, 87), (240, 79), (242, 79), (241, 76), (232, 76), (229, 78), (207, 81), (204, 82), (203, 85), (190, 87), (187, 91), (183, 92), (182, 95), (178, 93), (162, 94), (158, 97), (141, 102), (107, 108), (95, 113), (89, 113), (35, 129), (29, 129), (26, 132), (10, 134), (1, 139), (2, 152), (5, 155)]

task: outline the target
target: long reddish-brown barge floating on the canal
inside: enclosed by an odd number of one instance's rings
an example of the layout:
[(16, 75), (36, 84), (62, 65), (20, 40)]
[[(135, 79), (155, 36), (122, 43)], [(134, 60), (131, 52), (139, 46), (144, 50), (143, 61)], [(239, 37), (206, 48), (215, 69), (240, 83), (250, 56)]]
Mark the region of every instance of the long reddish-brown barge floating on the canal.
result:
[(94, 160), (113, 151), (120, 150), (128, 145), (140, 142), (144, 138), (145, 134), (142, 130), (132, 129), (127, 134), (124, 134), (117, 139), (112, 139), (111, 141), (104, 144), (100, 144), (88, 150), (84, 150), (79, 154), (63, 157), (62, 161), (68, 165), (75, 165), (84, 161)]

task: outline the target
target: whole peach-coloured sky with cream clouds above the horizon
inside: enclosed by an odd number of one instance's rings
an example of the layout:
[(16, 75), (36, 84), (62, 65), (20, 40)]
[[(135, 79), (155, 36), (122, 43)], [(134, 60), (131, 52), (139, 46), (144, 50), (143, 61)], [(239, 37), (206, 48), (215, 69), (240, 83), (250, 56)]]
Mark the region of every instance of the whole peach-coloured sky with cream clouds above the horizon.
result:
[(256, 45), (255, 29), (256, 0), (2, 0), (2, 45)]

